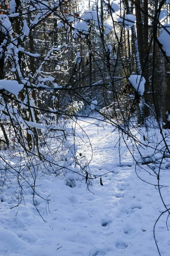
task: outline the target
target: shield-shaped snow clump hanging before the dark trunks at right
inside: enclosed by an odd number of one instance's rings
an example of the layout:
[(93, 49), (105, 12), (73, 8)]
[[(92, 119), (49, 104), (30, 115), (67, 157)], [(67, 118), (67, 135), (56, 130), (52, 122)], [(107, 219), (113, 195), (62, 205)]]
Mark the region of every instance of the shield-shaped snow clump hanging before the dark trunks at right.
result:
[(135, 88), (135, 90), (142, 96), (144, 93), (144, 84), (146, 81), (144, 77), (141, 75), (131, 75), (128, 79), (133, 88)]

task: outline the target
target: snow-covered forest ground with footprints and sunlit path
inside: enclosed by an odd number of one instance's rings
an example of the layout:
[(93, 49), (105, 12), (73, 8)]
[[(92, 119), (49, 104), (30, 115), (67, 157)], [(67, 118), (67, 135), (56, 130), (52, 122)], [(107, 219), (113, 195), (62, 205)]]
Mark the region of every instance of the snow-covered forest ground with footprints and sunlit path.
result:
[[(10, 180), (6, 181), (8, 187), (0, 187), (0, 255), (159, 255), (153, 228), (165, 207), (158, 187), (149, 184), (157, 184), (157, 176), (153, 176), (154, 173), (146, 165), (136, 166), (132, 154), (140, 161), (138, 150), (130, 138), (126, 138), (130, 154), (123, 138), (119, 140), (121, 134), (111, 125), (90, 118), (79, 121), (79, 124), (88, 134), (93, 148), (91, 174), (103, 175), (103, 186), (98, 178), (89, 186), (90, 191), (85, 180), (77, 181), (77, 185), (71, 188), (59, 176), (40, 173), (36, 192), (50, 199), (48, 204), (36, 196), (43, 221), (33, 205), (30, 186), (24, 186), (24, 201), (15, 207), (18, 183), (17, 177), (11, 174)], [(144, 128), (141, 131), (144, 132)], [(79, 126), (77, 132), (81, 134)], [(157, 134), (160, 136), (159, 131), (151, 132), (153, 136), (156, 134), (156, 139)], [(137, 131), (136, 137), (143, 140)], [(146, 154), (145, 151), (141, 148), (143, 154)], [(91, 152), (86, 151), (86, 157), (88, 154), (90, 157)], [(168, 205), (169, 169), (161, 170), (160, 184), (166, 185), (161, 188), (161, 193)], [(167, 229), (170, 228), (170, 221), (167, 217), (167, 213), (163, 214), (155, 229), (162, 256), (170, 255), (170, 232)]]

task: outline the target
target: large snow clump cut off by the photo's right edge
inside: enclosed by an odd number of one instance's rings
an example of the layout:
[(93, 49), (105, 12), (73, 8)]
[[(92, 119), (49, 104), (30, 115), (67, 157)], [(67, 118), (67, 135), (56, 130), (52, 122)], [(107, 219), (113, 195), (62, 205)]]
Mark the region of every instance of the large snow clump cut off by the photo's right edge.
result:
[(158, 40), (162, 44), (162, 49), (166, 52), (166, 55), (170, 57), (170, 24), (165, 24), (161, 27)]

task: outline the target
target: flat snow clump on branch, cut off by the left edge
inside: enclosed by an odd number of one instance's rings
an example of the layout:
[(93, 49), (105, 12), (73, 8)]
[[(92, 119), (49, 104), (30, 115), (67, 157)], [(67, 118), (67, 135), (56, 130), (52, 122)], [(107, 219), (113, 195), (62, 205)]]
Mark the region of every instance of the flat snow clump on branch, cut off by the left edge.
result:
[(15, 96), (18, 95), (23, 87), (23, 84), (18, 84), (18, 82), (15, 80), (0, 80), (0, 90), (5, 89), (8, 92), (13, 93)]

